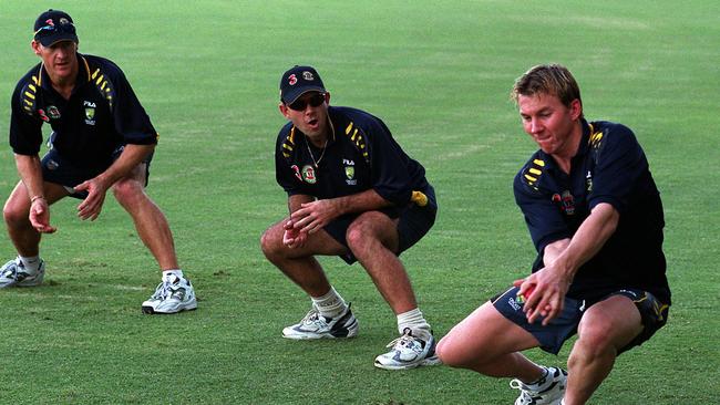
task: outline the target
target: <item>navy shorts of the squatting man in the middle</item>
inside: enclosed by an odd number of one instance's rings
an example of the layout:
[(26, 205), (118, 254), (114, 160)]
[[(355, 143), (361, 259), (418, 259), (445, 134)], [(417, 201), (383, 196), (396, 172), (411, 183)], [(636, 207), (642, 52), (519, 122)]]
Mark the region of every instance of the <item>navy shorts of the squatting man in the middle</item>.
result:
[[(398, 236), (400, 239), (398, 256), (422, 239), (422, 237), (424, 237), (430, 228), (435, 224), (435, 217), (438, 216), (435, 189), (428, 185), (428, 188), (421, 191), (425, 197), (428, 197), (428, 204), (424, 207), (410, 202), (402, 208), (389, 207), (378, 210), (392, 219), (400, 218), (398, 221)], [(322, 229), (325, 229), (335, 240), (340, 242), (340, 245), (348, 248), (346, 233), (348, 232), (350, 224), (352, 224), (357, 218), (358, 215), (344, 215), (326, 225)], [(340, 258), (342, 258), (342, 260), (348, 264), (352, 264), (358, 260), (350, 251), (350, 248), (348, 248), (348, 253), (340, 255)]]

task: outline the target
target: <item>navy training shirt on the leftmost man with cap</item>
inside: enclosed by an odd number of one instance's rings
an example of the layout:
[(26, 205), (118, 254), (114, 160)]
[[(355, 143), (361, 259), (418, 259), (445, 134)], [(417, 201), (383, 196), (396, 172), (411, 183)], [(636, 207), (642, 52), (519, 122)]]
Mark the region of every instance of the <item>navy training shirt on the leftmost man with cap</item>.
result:
[(53, 148), (74, 165), (104, 169), (125, 144), (154, 145), (157, 133), (125, 75), (110, 60), (78, 53), (78, 79), (69, 100), (53, 87), (42, 64), (16, 86), (11, 101), (10, 146), (37, 155), (42, 124), (55, 133)]

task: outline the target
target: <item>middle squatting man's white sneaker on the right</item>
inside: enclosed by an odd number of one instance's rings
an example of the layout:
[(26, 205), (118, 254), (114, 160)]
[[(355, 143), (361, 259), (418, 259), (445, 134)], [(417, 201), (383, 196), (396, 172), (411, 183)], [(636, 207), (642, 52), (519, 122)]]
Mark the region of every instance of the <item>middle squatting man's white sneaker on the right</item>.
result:
[(376, 367), (407, 370), (441, 363), (435, 354), (435, 338), (431, 334), (430, 341), (425, 342), (413, 336), (410, 328), (405, 328), (402, 336), (390, 342), (388, 347), (392, 350), (376, 357)]

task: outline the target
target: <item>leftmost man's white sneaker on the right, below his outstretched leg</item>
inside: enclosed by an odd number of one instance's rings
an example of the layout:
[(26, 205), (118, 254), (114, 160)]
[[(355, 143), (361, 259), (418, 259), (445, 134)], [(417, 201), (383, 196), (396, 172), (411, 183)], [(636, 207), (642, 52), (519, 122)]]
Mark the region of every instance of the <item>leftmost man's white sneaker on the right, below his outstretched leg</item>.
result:
[(195, 290), (189, 280), (175, 274), (163, 276), (155, 292), (143, 302), (143, 313), (177, 313), (197, 309)]

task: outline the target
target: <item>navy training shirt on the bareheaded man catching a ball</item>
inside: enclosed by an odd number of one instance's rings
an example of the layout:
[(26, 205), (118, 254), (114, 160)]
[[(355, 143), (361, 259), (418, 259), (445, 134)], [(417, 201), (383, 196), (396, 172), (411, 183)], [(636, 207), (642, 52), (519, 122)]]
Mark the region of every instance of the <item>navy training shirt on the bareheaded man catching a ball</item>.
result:
[(537, 150), (514, 180), (520, 206), (544, 267), (547, 245), (572, 238), (590, 210), (610, 204), (620, 215), (616, 231), (583, 264), (567, 295), (590, 301), (623, 288), (637, 288), (670, 304), (662, 253), (662, 202), (635, 134), (610, 122), (583, 120), (583, 138), (567, 175)]

